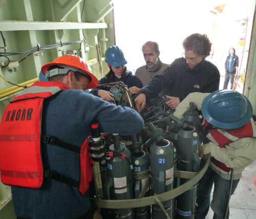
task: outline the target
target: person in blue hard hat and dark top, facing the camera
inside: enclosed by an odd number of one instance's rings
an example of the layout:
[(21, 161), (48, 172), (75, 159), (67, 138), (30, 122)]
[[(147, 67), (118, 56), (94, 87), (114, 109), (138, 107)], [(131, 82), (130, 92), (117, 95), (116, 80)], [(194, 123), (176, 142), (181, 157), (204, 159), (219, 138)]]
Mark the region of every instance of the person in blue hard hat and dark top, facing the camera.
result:
[[(127, 70), (125, 66), (127, 61), (118, 46), (111, 46), (106, 50), (105, 62), (108, 63), (110, 71), (105, 74), (105, 77), (99, 80), (99, 84), (122, 81), (128, 89), (134, 86), (140, 89), (142, 88), (143, 85), (140, 79), (133, 75), (131, 71)], [(90, 93), (106, 101), (119, 102), (120, 100), (120, 91), (114, 87), (97, 86)]]

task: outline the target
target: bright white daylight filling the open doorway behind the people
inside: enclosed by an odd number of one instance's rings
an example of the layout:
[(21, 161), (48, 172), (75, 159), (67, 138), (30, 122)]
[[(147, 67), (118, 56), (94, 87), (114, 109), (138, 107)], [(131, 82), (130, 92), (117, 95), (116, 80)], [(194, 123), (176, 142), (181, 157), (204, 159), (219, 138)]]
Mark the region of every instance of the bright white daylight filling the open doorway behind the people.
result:
[[(226, 2), (223, 13), (213, 14), (210, 10)], [(116, 45), (124, 52), (127, 66), (136, 70), (145, 64), (141, 47), (148, 40), (157, 41), (160, 59), (172, 63), (181, 57), (182, 40), (192, 34), (207, 34), (214, 44), (214, 62), (224, 75), (224, 62), (230, 47), (237, 50), (242, 59), (243, 47), (238, 46), (245, 37), (246, 25), (240, 19), (248, 19), (247, 49), (249, 46), (254, 0), (119, 0), (114, 2)], [(216, 28), (216, 29), (215, 29)], [(248, 43), (248, 44), (247, 44)], [(247, 53), (243, 55), (246, 67)], [(241, 70), (241, 71), (242, 71)]]

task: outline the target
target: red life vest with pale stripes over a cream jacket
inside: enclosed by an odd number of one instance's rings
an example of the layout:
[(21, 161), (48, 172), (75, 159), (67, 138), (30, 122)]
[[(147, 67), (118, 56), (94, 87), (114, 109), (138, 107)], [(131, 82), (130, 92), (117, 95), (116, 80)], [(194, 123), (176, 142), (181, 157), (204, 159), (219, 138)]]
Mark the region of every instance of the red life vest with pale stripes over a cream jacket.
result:
[[(203, 121), (204, 131), (208, 125), (209, 123), (204, 119)], [(252, 118), (250, 119), (249, 122), (247, 122), (242, 127), (239, 127), (236, 129), (225, 129), (225, 130), (211, 128), (209, 129), (208, 134), (206, 135), (206, 138), (208, 140), (215, 143), (219, 147), (223, 147), (223, 148), (225, 147), (226, 144), (229, 144), (233, 141), (236, 141), (240, 138), (245, 138), (245, 137), (256, 137), (256, 125)], [(211, 157), (211, 162), (226, 172), (229, 172), (231, 169), (227, 167), (225, 164), (216, 160), (214, 157)]]

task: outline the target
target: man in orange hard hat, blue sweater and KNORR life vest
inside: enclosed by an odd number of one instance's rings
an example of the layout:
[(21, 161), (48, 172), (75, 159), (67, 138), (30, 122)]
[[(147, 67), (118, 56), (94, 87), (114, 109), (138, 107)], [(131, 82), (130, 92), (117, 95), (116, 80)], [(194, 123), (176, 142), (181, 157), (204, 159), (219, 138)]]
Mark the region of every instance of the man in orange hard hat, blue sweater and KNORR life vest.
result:
[(143, 128), (143, 119), (131, 107), (84, 92), (98, 80), (78, 56), (58, 57), (41, 72), (49, 81), (23, 90), (3, 114), (1, 181), (11, 185), (19, 219), (93, 218), (87, 141), (92, 121), (99, 122), (101, 133), (134, 135)]

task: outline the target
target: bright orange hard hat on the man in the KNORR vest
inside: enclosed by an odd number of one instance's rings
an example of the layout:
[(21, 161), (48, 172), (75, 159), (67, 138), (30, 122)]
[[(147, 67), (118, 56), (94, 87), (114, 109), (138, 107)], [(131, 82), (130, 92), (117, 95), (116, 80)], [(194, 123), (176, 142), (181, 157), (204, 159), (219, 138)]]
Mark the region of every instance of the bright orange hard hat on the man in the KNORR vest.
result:
[(50, 67), (53, 65), (67, 65), (69, 67), (73, 67), (73, 68), (80, 70), (81, 72), (80, 71), (79, 72), (81, 74), (84, 74), (84, 76), (86, 76), (86, 77), (89, 76), (91, 78), (91, 80), (88, 84), (87, 89), (93, 89), (96, 86), (98, 86), (98, 84), (99, 84), (98, 79), (92, 74), (89, 64), (86, 61), (84, 61), (82, 58), (80, 58), (79, 56), (75, 56), (72, 54), (60, 56), (60, 57), (54, 59), (53, 62), (49, 62), (49, 63), (42, 65), (42, 67), (41, 67), (42, 74), (44, 74), (46, 76), (46, 72), (49, 72)]

